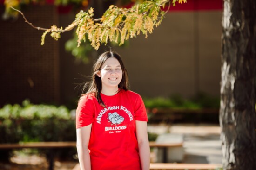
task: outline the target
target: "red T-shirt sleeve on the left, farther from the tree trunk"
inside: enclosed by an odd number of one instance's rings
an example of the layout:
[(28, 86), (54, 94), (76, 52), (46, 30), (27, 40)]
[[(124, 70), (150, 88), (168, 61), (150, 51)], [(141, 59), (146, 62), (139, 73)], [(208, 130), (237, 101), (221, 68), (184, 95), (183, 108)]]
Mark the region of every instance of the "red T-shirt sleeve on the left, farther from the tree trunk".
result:
[(94, 121), (94, 101), (88, 95), (80, 98), (76, 109), (76, 128), (90, 125)]

